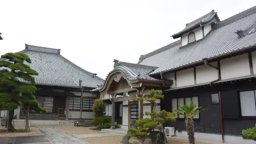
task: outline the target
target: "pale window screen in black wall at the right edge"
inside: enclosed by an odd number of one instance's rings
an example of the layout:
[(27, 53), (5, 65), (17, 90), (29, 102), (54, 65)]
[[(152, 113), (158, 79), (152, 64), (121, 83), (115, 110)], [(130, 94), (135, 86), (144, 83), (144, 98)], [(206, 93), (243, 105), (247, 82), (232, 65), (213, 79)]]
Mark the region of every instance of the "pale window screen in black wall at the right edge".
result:
[(241, 115), (256, 116), (255, 91), (240, 92)]

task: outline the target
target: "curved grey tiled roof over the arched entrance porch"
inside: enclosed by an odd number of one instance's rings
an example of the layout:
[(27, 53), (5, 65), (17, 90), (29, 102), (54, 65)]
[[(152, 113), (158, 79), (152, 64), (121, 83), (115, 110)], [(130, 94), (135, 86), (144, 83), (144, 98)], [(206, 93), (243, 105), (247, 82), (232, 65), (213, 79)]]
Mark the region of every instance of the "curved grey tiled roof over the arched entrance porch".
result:
[[(126, 63), (118, 61), (116, 59), (114, 59), (114, 62), (114, 69), (108, 73), (105, 79), (105, 83), (107, 79), (110, 77), (110, 75), (115, 72), (122, 72), (125, 75), (126, 79), (130, 82), (138, 80), (162, 81), (161, 79), (155, 79), (148, 75), (150, 72), (154, 71), (158, 67)], [(101, 90), (104, 87), (104, 85), (101, 85), (100, 87), (92, 90), (92, 92)]]

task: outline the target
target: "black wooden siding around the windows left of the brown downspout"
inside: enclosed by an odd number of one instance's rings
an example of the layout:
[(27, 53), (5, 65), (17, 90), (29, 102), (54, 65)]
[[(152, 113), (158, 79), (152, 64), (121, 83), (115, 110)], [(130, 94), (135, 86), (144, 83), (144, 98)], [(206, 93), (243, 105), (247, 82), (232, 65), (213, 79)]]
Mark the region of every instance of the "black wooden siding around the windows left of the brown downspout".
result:
[[(162, 101), (162, 108), (171, 111), (171, 98), (181, 98), (198, 96), (199, 105), (208, 108), (199, 115), (199, 120), (195, 120), (195, 131), (206, 133), (221, 133), (220, 108), (219, 104), (211, 104), (211, 94), (218, 93), (213, 88), (197, 88), (186, 91), (166, 92)], [(166, 122), (165, 126), (175, 127), (176, 130), (186, 130), (184, 119), (177, 119), (176, 122)]]

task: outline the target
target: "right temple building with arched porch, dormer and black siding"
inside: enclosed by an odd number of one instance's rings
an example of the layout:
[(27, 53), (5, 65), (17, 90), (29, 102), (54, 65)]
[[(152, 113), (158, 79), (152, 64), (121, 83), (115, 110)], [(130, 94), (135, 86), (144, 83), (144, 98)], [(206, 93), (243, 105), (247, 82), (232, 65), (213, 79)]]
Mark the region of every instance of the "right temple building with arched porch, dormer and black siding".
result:
[[(142, 55), (137, 64), (114, 60), (104, 85), (92, 92), (109, 104), (112, 126), (116, 122), (127, 129), (131, 119), (145, 118), (150, 104), (134, 98), (162, 89), (158, 111), (191, 101), (208, 108), (194, 118), (196, 138), (254, 144), (242, 130), (256, 124), (256, 7), (226, 20), (213, 10), (184, 25), (171, 36), (179, 40)], [(164, 126), (187, 137), (184, 117), (176, 118)]]

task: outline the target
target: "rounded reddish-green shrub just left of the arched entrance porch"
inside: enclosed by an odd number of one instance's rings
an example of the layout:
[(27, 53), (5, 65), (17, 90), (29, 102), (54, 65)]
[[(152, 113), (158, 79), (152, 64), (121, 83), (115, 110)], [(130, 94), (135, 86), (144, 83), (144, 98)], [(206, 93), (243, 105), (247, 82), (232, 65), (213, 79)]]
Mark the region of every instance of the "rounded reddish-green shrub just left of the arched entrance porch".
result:
[(105, 116), (107, 103), (104, 102), (102, 99), (97, 98), (94, 101), (92, 106), (92, 111), (94, 113), (94, 118)]

